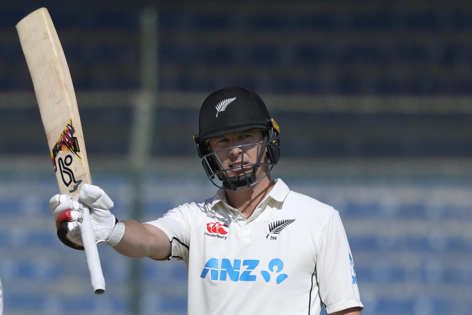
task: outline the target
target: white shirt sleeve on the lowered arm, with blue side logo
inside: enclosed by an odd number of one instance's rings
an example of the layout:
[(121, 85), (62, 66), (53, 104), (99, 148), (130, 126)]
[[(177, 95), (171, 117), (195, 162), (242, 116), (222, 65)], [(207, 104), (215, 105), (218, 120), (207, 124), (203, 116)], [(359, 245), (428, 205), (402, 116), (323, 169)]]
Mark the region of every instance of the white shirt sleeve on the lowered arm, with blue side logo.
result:
[(335, 211), (324, 222), (318, 238), (318, 249), (316, 277), (326, 313), (352, 307), (363, 308), (353, 255), (339, 212)]

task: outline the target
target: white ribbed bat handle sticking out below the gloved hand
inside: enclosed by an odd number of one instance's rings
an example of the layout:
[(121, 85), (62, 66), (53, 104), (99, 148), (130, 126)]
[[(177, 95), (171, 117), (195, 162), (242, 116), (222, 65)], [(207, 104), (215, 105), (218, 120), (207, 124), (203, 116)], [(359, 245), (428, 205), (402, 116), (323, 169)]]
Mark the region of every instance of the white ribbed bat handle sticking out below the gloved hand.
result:
[(98, 256), (95, 234), (90, 221), (89, 208), (84, 207), (84, 219), (81, 225), (82, 242), (84, 243), (85, 257), (89, 265), (90, 282), (95, 294), (105, 293), (105, 278), (103, 277), (100, 257)]

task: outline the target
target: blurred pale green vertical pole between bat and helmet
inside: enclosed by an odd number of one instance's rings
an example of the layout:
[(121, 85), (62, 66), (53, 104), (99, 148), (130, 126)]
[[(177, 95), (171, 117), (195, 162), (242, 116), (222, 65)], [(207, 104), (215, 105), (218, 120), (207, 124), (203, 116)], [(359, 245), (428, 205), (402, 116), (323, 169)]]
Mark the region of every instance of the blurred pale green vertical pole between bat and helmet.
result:
[[(151, 143), (152, 108), (157, 103), (158, 66), (157, 66), (157, 33), (158, 16), (153, 8), (144, 9), (140, 16), (141, 22), (141, 91), (134, 100), (133, 124), (130, 138), (129, 160), (131, 165), (130, 183), (132, 193), (131, 218), (141, 221), (143, 200), (145, 199), (145, 169), (149, 159)], [(155, 139), (153, 140), (155, 141)], [(131, 259), (129, 299), (130, 314), (141, 314), (142, 298), (141, 260)]]

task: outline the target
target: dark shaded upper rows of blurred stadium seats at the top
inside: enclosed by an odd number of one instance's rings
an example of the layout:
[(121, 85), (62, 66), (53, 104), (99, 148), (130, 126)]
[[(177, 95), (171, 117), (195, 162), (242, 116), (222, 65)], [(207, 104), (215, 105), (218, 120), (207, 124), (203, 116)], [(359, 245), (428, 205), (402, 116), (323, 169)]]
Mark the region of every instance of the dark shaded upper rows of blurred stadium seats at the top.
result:
[[(157, 7), (160, 86), (211, 91), (236, 82), (269, 93), (467, 94), (471, 81), (461, 68), (470, 66), (471, 46), (463, 39), (472, 13), (466, 3), (455, 4), (302, 1), (290, 10), (283, 3), (261, 10), (261, 3), (244, 9), (187, 3), (188, 11), (163, 4)], [(138, 88), (139, 4), (95, 7), (49, 8), (76, 90)], [(6, 7), (0, 27), (11, 30), (25, 9)], [(3, 66), (23, 70), (3, 76), (0, 90), (29, 89), (15, 34), (7, 34), (0, 39)]]

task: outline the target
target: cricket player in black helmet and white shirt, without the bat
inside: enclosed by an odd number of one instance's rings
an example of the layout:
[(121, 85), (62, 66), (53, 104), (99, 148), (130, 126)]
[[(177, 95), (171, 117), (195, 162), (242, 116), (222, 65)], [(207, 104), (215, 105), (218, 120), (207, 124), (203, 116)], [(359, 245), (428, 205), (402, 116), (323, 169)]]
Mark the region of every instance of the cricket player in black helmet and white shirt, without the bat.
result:
[[(79, 201), (55, 195), (59, 239), (83, 249), (81, 209), (89, 207), (97, 244), (130, 257), (183, 260), (189, 315), (360, 315), (354, 260), (339, 212), (291, 190), (270, 171), (280, 129), (264, 101), (230, 87), (210, 94), (194, 136), (218, 189), (162, 218), (118, 221), (113, 201), (85, 184)], [(158, 285), (158, 284), (157, 284)]]

